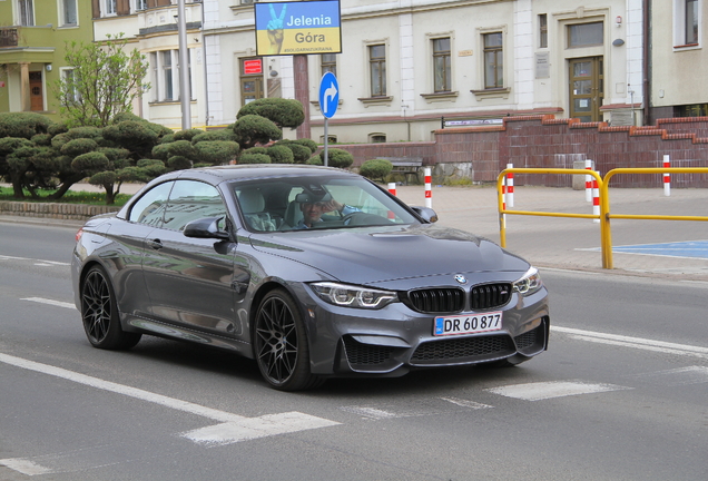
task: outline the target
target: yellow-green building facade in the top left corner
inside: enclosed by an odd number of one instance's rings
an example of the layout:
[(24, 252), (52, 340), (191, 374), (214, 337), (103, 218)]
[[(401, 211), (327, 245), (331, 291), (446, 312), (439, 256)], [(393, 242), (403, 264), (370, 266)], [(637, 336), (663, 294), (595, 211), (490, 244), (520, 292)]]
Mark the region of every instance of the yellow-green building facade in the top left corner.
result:
[(53, 84), (70, 75), (66, 42), (91, 42), (85, 0), (0, 1), (0, 111), (33, 111), (59, 120)]

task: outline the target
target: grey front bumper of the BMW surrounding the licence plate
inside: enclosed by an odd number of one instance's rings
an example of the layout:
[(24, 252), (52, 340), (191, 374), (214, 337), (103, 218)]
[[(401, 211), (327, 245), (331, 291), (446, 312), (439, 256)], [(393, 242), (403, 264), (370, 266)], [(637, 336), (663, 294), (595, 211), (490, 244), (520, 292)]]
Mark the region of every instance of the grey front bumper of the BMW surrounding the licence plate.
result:
[(402, 303), (368, 311), (307, 297), (305, 318), (315, 374), (397, 376), (412, 369), (504, 359), (513, 359), (515, 364), (548, 347), (550, 315), (544, 288), (525, 297), (514, 294), (508, 304), (494, 308), (503, 312), (502, 330), (455, 336), (434, 336), (435, 315)]

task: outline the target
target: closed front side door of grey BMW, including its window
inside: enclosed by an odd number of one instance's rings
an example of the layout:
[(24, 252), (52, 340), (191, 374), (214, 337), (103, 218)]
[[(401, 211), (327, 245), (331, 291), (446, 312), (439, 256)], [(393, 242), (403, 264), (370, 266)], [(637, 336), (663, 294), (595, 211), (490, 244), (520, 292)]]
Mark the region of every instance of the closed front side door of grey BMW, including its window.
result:
[(175, 181), (165, 220), (146, 239), (142, 259), (151, 315), (157, 321), (228, 336), (243, 332), (232, 287), (236, 244), (184, 235), (191, 220), (226, 215), (226, 205), (214, 186)]

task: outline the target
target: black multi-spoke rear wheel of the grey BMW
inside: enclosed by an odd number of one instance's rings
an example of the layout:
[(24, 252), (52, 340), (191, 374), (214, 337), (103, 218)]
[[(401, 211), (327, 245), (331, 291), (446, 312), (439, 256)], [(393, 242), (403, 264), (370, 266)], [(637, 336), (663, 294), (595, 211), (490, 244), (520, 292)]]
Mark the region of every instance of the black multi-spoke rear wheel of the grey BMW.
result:
[(127, 350), (140, 341), (140, 334), (120, 327), (114, 287), (102, 267), (89, 269), (81, 284), (81, 320), (83, 331), (94, 347)]

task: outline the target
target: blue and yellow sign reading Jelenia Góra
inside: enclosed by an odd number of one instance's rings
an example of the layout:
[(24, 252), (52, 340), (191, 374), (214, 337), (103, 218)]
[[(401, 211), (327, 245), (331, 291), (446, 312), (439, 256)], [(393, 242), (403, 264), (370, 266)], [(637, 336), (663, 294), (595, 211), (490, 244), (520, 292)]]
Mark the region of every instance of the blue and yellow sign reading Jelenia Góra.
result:
[(257, 56), (342, 52), (338, 0), (253, 6)]

